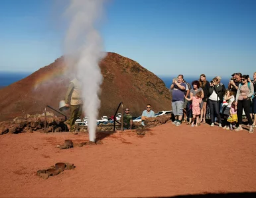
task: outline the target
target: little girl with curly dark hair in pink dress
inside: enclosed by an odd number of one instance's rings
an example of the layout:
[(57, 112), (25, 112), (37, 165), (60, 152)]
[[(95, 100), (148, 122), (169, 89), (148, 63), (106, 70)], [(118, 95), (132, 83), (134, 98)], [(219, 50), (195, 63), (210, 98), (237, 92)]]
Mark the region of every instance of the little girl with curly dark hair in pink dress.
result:
[[(202, 91), (197, 92), (196, 96), (193, 96), (192, 98), (187, 98), (186, 96), (184, 96), (186, 98), (186, 100), (190, 101), (192, 100), (192, 114), (193, 114), (193, 119), (192, 119), (192, 127), (197, 127), (198, 126), (198, 122), (199, 122), (199, 116), (201, 114), (201, 110), (200, 110), (200, 104), (202, 102)], [(196, 125), (194, 125), (194, 121), (196, 119)]]

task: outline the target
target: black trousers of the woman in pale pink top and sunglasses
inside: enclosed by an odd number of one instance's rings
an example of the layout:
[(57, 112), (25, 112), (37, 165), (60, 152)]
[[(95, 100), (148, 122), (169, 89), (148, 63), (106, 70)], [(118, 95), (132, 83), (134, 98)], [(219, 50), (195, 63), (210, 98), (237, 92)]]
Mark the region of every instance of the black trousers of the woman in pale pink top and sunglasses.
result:
[(243, 110), (245, 111), (245, 116), (247, 117), (249, 121), (249, 125), (253, 125), (253, 120), (250, 116), (250, 106), (251, 106), (251, 100), (237, 100), (237, 119), (238, 124), (241, 125), (243, 121)]

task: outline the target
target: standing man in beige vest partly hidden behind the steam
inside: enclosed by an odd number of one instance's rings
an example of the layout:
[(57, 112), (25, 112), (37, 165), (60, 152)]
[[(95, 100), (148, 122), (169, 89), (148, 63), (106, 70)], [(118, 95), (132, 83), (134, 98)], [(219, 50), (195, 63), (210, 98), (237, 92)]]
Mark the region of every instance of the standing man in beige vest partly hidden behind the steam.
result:
[(68, 91), (66, 92), (65, 103), (67, 107), (70, 107), (70, 118), (64, 123), (70, 128), (72, 134), (78, 134), (75, 131), (75, 121), (82, 115), (83, 100), (82, 100), (82, 88), (78, 79), (73, 79), (70, 81), (68, 86)]

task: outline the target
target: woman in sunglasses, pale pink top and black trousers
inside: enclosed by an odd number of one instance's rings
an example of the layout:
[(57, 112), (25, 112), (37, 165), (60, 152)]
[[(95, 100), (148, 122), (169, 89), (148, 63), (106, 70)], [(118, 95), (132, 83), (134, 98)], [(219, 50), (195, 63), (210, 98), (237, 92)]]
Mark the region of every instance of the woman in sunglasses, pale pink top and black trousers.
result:
[(241, 131), (243, 110), (250, 125), (249, 133), (253, 133), (253, 121), (250, 116), (251, 97), (254, 94), (253, 83), (248, 83), (249, 75), (243, 75), (241, 78), (241, 84), (238, 86), (237, 96), (235, 97), (235, 105), (237, 106), (237, 118), (239, 127), (235, 131)]

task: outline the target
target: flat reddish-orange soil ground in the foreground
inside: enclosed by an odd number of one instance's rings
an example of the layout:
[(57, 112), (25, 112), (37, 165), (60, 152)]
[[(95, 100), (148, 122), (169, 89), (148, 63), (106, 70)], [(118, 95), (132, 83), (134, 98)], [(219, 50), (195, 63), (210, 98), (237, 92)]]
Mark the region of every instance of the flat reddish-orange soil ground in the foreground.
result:
[[(80, 133), (1, 135), (0, 197), (154, 197), (256, 191), (256, 135), (202, 125), (155, 127), (105, 137), (103, 145), (60, 150)], [(75, 170), (43, 180), (56, 162)]]

